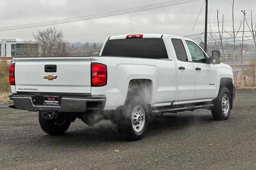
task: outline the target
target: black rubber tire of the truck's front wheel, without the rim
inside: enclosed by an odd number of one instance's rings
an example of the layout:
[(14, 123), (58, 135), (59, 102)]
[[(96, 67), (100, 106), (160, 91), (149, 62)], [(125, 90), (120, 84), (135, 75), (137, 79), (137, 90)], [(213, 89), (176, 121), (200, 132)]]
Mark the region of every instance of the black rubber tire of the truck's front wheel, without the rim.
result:
[[(224, 95), (228, 97), (228, 101), (229, 101), (229, 107), (227, 109), (226, 114), (224, 114), (224, 111), (222, 109), (222, 97), (224, 97)], [(211, 109), (212, 117), (218, 121), (227, 120), (231, 111), (231, 103), (232, 103), (232, 99), (231, 99), (230, 91), (228, 90), (228, 88), (220, 87), (218, 96), (216, 99), (214, 99), (214, 102), (213, 102), (214, 108)]]

